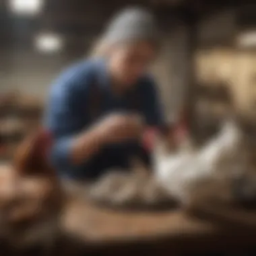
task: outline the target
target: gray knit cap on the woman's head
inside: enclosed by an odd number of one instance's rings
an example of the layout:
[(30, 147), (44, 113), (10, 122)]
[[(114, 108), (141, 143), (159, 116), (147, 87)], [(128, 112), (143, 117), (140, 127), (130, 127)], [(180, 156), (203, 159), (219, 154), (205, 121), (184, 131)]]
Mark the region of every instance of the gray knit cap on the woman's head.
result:
[(154, 15), (146, 9), (131, 7), (113, 18), (103, 38), (108, 43), (133, 40), (150, 40), (157, 43), (159, 36)]

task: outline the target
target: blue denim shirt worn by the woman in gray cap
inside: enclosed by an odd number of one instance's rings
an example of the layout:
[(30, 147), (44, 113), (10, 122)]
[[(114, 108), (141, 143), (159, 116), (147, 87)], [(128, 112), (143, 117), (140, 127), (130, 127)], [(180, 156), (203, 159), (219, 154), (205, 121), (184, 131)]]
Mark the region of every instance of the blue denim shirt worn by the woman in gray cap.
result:
[[(101, 92), (100, 115), (130, 110), (127, 95), (117, 97), (111, 92), (110, 77), (103, 59), (88, 59), (64, 71), (51, 88), (46, 108), (45, 127), (53, 133), (51, 162), (61, 174), (67, 177), (84, 179), (97, 177), (113, 166), (127, 166), (128, 158), (134, 150), (134, 143), (110, 145), (91, 160), (75, 166), (70, 160), (73, 135), (86, 130), (93, 121), (89, 117), (89, 98), (92, 86)], [(152, 77), (145, 75), (129, 92), (139, 98), (139, 111), (148, 125), (162, 123), (162, 111)], [(131, 96), (131, 95), (130, 95)]]

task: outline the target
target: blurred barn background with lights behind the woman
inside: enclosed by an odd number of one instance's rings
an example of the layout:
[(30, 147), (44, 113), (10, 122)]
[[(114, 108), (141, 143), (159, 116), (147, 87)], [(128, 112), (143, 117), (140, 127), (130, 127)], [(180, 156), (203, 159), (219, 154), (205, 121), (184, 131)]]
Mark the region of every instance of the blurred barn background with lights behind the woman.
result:
[[(251, 123), (256, 104), (256, 4), (203, 0), (0, 1), (0, 152), (40, 125), (58, 73), (86, 57), (119, 9), (147, 6), (156, 14), (162, 50), (154, 73), (166, 120), (181, 113), (198, 141), (216, 129), (232, 104)], [(185, 111), (185, 112), (184, 112)]]

